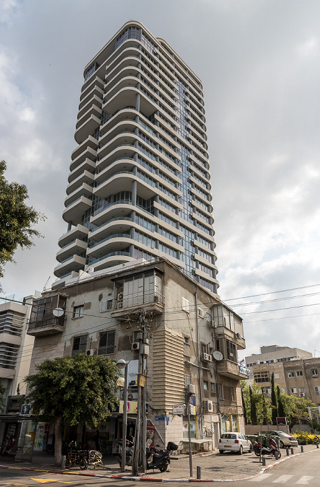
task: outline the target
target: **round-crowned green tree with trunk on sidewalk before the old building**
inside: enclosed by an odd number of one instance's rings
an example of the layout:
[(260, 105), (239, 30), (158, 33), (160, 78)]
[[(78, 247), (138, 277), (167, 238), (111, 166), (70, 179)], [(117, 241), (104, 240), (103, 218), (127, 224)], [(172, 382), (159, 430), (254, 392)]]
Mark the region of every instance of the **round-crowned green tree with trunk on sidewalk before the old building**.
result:
[(97, 426), (110, 414), (108, 404), (118, 403), (116, 381), (121, 375), (114, 360), (103, 356), (45, 360), (38, 372), (24, 378), (29, 392), (25, 401), (54, 421), (54, 460), (61, 465), (61, 426), (82, 423)]

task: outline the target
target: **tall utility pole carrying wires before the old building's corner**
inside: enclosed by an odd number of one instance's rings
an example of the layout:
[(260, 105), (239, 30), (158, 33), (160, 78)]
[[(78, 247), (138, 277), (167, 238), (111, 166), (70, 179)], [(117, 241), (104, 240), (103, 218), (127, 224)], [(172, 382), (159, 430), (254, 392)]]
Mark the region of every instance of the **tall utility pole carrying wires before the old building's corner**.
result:
[(138, 364), (138, 404), (136, 412), (136, 434), (134, 437), (134, 458), (132, 461), (132, 474), (138, 475), (146, 470), (145, 443), (147, 434), (146, 407), (146, 366), (145, 358), (149, 355), (149, 341), (147, 338), (147, 319), (145, 310), (139, 312), (138, 327), (141, 332)]

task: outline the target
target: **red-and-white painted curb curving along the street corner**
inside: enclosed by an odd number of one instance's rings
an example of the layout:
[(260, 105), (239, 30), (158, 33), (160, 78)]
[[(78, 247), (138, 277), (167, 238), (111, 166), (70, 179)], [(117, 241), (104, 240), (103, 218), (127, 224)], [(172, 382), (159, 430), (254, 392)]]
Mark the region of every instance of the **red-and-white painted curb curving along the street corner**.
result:
[(243, 477), (242, 479), (159, 479), (157, 477), (129, 477), (126, 475), (108, 475), (108, 474), (90, 474), (90, 473), (82, 473), (82, 472), (66, 472), (65, 470), (42, 470), (38, 468), (27, 468), (27, 467), (8, 467), (6, 465), (0, 465), (0, 469), (8, 469), (8, 470), (23, 470), (24, 472), (42, 472), (48, 474), (64, 474), (64, 475), (79, 475), (81, 477), (99, 477), (103, 479), (116, 479), (116, 480), (130, 480), (130, 481), (141, 481), (141, 482), (234, 482), (234, 481), (242, 481), (248, 479), (254, 479), (255, 477), (259, 477), (259, 475), (263, 474), (267, 470), (275, 467), (279, 463), (289, 460), (290, 458), (294, 458), (295, 456), (305, 455), (308, 453), (317, 452), (317, 449), (310, 450), (310, 452), (303, 452), (303, 453), (296, 453), (294, 455), (285, 456), (285, 458), (281, 458), (280, 460), (271, 463), (267, 467), (262, 468), (257, 474), (250, 475), (249, 477)]

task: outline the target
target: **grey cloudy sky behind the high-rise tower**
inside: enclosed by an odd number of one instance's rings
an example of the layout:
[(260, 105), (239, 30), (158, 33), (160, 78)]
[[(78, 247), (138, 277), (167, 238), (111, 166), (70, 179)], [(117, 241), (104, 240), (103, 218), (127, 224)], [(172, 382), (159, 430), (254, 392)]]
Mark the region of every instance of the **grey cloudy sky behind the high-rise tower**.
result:
[(1, 0), (0, 159), (47, 215), (3, 295), (54, 281), (83, 67), (131, 19), (203, 82), (219, 292), (243, 317), (241, 356), (276, 343), (319, 357), (319, 0)]

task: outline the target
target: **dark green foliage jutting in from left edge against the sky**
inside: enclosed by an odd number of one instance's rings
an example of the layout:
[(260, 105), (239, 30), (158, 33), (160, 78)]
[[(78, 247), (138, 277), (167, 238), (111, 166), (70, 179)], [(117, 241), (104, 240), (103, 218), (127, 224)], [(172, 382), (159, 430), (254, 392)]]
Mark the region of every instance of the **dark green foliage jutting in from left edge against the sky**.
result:
[(9, 183), (4, 177), (5, 171), (6, 162), (0, 161), (0, 278), (3, 278), (3, 266), (7, 262), (15, 262), (15, 250), (18, 247), (30, 248), (33, 237), (41, 237), (33, 225), (45, 219), (44, 215), (25, 204), (29, 198), (26, 186)]

